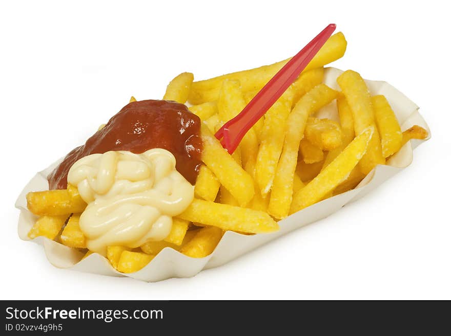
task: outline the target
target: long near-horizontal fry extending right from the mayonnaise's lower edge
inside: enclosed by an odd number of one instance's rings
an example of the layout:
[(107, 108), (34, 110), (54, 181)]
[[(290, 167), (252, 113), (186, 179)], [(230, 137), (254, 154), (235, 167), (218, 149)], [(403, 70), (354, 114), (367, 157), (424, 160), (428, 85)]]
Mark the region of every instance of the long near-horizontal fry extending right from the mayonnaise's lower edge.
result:
[(179, 218), (203, 225), (218, 227), (224, 231), (245, 233), (269, 233), (279, 226), (265, 212), (194, 199)]

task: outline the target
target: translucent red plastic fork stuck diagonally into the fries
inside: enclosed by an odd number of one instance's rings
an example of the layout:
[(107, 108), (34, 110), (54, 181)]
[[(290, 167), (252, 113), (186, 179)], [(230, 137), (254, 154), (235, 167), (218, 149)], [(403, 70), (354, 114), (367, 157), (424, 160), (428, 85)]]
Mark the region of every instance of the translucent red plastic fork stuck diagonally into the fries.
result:
[(311, 40), (299, 53), (286, 63), (246, 107), (233, 119), (225, 123), (215, 134), (221, 140), (222, 147), (232, 154), (241, 139), (252, 126), (273, 106), (277, 99), (294, 82), (302, 70), (310, 63), (324, 43), (335, 31), (336, 25), (330, 24)]

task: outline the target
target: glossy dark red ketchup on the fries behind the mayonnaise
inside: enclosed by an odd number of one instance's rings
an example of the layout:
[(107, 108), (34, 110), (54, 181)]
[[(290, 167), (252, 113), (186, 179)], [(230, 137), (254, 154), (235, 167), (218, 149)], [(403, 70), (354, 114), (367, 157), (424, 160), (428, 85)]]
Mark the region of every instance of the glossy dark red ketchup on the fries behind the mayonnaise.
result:
[(170, 151), (176, 169), (191, 184), (200, 166), (200, 119), (188, 108), (165, 100), (142, 100), (124, 106), (85, 145), (73, 149), (47, 177), (49, 188), (66, 189), (67, 174), (84, 156), (109, 150), (142, 153), (152, 148)]

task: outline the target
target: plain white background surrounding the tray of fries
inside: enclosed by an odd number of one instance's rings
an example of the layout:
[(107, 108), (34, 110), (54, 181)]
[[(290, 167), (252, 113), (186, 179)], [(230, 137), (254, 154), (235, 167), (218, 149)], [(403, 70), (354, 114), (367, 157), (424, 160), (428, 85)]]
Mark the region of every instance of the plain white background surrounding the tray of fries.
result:
[[(126, 2), (124, 2), (126, 3)], [(2, 2), (0, 299), (451, 299), (449, 33), (442, 2)], [(294, 55), (329, 23), (337, 68), (385, 80), (433, 137), (338, 213), (190, 279), (144, 283), (60, 270), (16, 233), (14, 201), (131, 95)]]

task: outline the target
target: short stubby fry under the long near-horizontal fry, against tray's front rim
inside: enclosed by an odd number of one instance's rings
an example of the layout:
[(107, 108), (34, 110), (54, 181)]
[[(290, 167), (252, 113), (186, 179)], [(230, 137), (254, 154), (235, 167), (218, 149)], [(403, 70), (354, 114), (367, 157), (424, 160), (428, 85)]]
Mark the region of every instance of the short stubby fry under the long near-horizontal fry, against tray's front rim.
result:
[(222, 237), (222, 230), (216, 227), (205, 227), (197, 230), (196, 235), (180, 249), (180, 252), (191, 258), (203, 258), (213, 252)]

